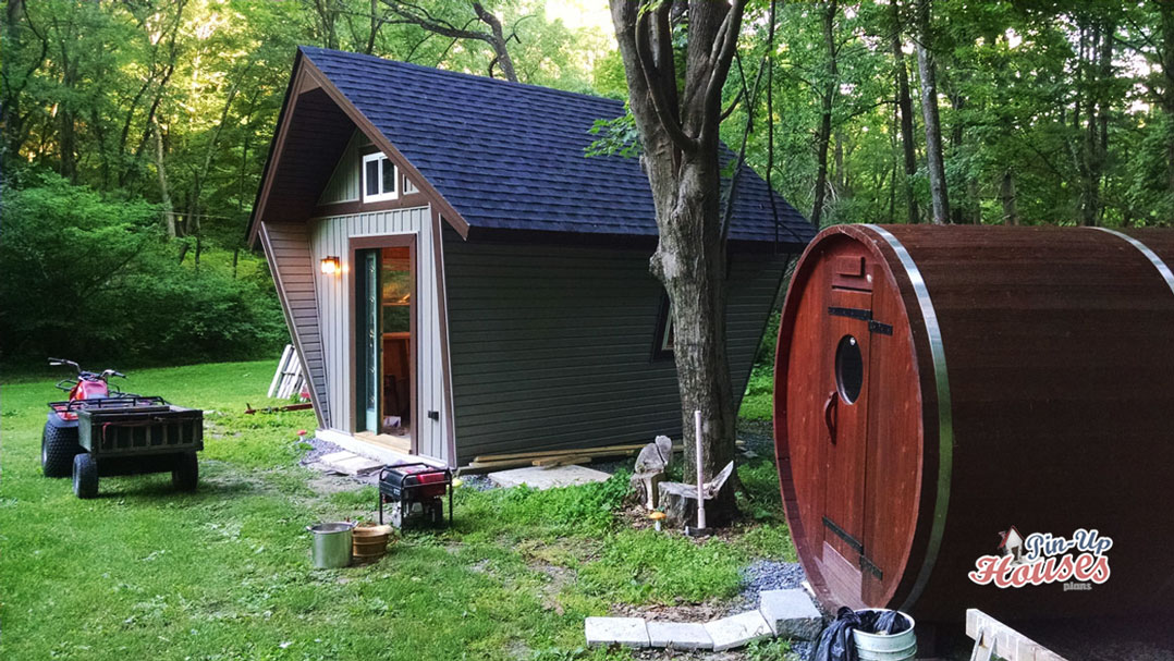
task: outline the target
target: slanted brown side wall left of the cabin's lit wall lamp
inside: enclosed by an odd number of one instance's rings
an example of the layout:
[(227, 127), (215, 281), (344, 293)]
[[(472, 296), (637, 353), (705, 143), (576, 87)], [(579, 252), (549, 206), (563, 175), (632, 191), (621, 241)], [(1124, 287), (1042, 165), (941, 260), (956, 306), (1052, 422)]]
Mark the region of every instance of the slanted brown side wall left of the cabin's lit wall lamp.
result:
[(274, 272), (285, 323), (313, 392), (319, 421), (330, 425), (331, 403), (326, 394), (325, 357), (313, 277), (316, 259), (310, 256), (309, 234), (302, 223), (264, 223), (261, 241)]

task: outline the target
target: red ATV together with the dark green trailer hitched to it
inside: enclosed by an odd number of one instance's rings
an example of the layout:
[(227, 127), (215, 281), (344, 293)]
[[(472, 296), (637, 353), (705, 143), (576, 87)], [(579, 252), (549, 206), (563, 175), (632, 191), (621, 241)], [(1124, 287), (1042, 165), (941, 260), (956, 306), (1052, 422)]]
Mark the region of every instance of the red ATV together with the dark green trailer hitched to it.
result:
[(66, 402), (49, 403), (41, 436), (41, 470), (46, 477), (73, 475), (79, 498), (97, 495), (99, 475), (171, 472), (183, 491), (196, 488), (196, 452), (203, 450), (203, 411), (173, 406), (162, 397), (122, 392), (107, 383), (126, 375), (114, 370), (87, 372), (73, 360), (50, 358), (50, 365), (69, 365), (76, 380), (58, 387)]

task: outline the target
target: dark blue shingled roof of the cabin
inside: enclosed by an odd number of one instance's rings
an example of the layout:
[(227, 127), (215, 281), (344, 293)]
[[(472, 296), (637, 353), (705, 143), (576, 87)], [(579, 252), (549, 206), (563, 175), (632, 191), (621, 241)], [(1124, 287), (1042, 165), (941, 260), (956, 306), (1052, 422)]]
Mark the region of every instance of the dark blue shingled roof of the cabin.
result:
[[(583, 155), (598, 137), (588, 133), (595, 120), (622, 115), (623, 103), (356, 53), (301, 50), (470, 225), (656, 234), (639, 161)], [(769, 195), (745, 168), (730, 238), (776, 240)], [(775, 200), (777, 240), (809, 242), (811, 225)]]

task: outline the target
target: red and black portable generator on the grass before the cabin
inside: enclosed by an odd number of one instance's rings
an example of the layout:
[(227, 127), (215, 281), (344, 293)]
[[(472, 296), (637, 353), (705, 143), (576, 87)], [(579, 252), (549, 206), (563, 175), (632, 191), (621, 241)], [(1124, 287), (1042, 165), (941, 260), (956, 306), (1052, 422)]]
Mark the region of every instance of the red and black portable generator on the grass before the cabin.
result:
[(443, 526), (445, 494), (451, 525), (452, 470), (423, 463), (384, 466), (379, 471), (379, 524), (383, 524), (383, 506), (391, 504), (391, 525), (399, 530)]

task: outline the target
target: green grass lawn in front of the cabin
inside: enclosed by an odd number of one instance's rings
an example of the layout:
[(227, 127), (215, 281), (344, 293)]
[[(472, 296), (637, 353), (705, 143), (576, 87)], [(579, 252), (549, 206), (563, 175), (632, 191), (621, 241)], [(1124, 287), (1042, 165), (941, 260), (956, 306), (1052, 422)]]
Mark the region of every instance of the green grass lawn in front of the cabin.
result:
[[(305, 526), (370, 515), (375, 492), (297, 464), (310, 412), (244, 416), (272, 362), (144, 370), (128, 390), (205, 410), (196, 493), (166, 473), (95, 500), (40, 472), (55, 378), (0, 390), (0, 659), (628, 659), (582, 649), (619, 605), (737, 594), (754, 558), (794, 559), (774, 466), (741, 470), (754, 521), (696, 544), (616, 515), (626, 475), (549, 492), (458, 490), (456, 524), (366, 567), (313, 569)], [(782, 657), (785, 643), (748, 657)]]

